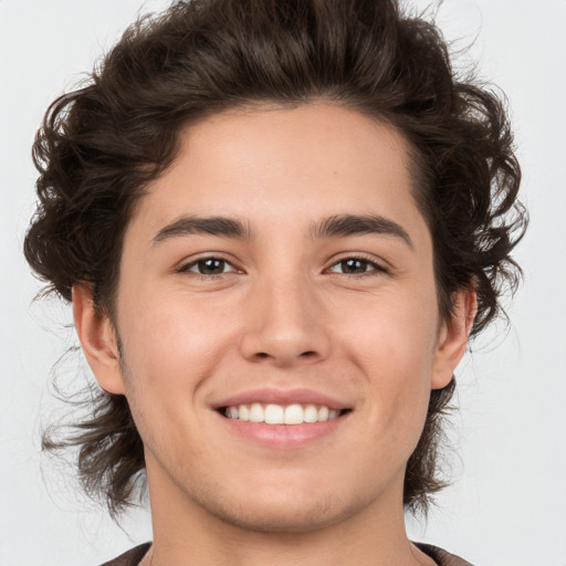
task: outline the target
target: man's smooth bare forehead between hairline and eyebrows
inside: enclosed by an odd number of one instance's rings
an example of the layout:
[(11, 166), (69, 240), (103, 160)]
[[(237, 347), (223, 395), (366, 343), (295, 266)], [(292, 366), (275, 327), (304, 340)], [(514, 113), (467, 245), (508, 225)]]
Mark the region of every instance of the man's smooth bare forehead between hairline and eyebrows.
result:
[(171, 167), (132, 220), (156, 232), (180, 214), (238, 217), (259, 229), (336, 214), (422, 221), (408, 146), (394, 127), (338, 106), (224, 112), (186, 127)]

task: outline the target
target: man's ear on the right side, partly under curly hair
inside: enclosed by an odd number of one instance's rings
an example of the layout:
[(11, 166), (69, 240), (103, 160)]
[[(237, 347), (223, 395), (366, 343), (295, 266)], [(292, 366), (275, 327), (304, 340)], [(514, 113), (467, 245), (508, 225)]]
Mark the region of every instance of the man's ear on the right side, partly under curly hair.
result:
[(465, 354), (468, 337), (478, 312), (478, 300), (473, 289), (454, 292), (452, 301), (452, 315), (440, 326), (432, 364), (432, 389), (441, 389), (452, 380), (454, 370)]

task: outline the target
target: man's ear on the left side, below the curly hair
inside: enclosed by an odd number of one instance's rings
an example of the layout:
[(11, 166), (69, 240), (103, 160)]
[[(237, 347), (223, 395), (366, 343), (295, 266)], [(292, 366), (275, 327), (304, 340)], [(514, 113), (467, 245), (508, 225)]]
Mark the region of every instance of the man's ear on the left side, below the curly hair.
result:
[(114, 325), (95, 307), (90, 285), (73, 285), (73, 316), (84, 355), (98, 385), (109, 394), (124, 394), (118, 343)]

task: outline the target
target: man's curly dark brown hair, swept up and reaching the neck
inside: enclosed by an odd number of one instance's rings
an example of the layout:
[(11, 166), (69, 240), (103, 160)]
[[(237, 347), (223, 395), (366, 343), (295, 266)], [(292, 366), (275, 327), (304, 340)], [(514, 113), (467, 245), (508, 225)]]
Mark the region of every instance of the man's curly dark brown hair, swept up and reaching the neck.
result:
[[(451, 69), (446, 41), (395, 0), (192, 0), (133, 24), (88, 83), (56, 99), (33, 158), (39, 206), (25, 256), (71, 301), (80, 282), (111, 318), (124, 231), (147, 184), (172, 163), (181, 127), (254, 103), (314, 98), (357, 109), (402, 133), (417, 201), (433, 240), (441, 316), (473, 287), (472, 334), (500, 312), (521, 271), (520, 167), (501, 96)], [(433, 390), (408, 462), (405, 504), (426, 509), (438, 476), (442, 415), (454, 380)], [(123, 396), (98, 390), (87, 420), (44, 447), (76, 446), (80, 478), (113, 514), (144, 476), (143, 443)]]

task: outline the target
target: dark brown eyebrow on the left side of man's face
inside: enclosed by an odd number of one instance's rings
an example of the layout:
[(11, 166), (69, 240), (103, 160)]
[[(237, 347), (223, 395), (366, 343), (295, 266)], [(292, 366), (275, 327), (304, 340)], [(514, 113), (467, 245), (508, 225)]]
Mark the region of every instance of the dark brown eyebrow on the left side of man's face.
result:
[(188, 234), (209, 234), (220, 238), (250, 239), (252, 231), (245, 222), (224, 217), (181, 217), (161, 228), (154, 237), (158, 243), (170, 238)]

